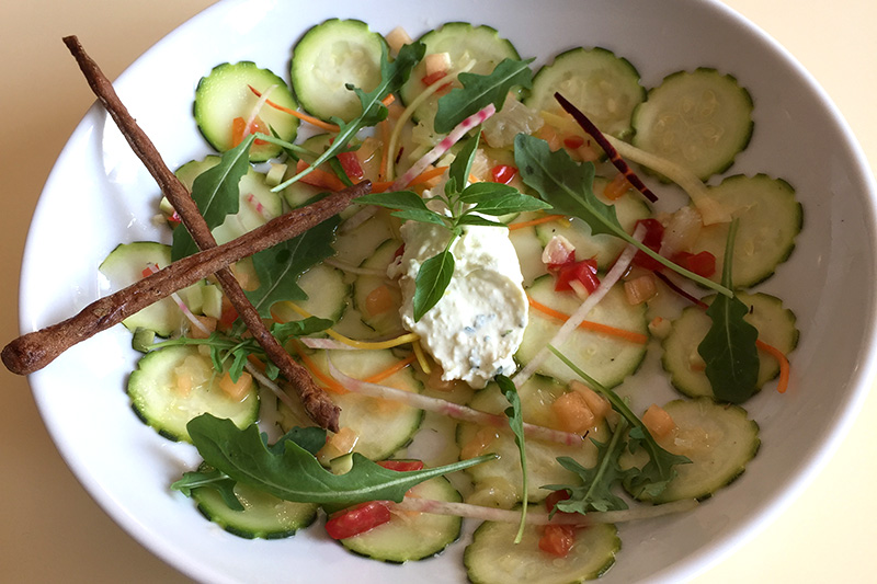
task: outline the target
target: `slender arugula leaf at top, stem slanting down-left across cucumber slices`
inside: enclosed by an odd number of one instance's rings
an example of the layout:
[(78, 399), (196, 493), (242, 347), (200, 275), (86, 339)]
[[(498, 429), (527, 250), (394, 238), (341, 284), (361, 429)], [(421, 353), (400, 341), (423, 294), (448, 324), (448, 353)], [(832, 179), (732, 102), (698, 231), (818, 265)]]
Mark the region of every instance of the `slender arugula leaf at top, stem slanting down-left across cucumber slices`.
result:
[[(420, 42), (405, 45), (399, 49), (399, 55), (397, 55), (392, 61), (389, 60), (386, 46), (381, 45), (380, 50), (380, 82), (377, 87), (366, 93), (360, 88), (355, 88), (351, 84), (346, 85), (349, 90), (354, 91), (360, 98), (360, 103), (363, 108), (362, 114), (350, 123), (345, 123), (343, 119), (337, 117), (333, 118), (332, 122), (338, 124), (339, 131), (329, 148), (317, 157), (308, 168), (278, 184), (272, 188), (272, 191), (283, 191), (291, 184), (299, 181), (323, 162), (331, 160), (338, 156), (339, 152), (345, 151), (348, 145), (361, 129), (375, 126), (387, 118), (388, 110), (381, 101), (390, 93), (399, 91), (405, 82), (408, 81), (411, 70), (420, 62), (420, 59), (423, 58), (426, 51), (426, 45)], [(262, 135), (260, 135), (260, 138), (262, 138)]]

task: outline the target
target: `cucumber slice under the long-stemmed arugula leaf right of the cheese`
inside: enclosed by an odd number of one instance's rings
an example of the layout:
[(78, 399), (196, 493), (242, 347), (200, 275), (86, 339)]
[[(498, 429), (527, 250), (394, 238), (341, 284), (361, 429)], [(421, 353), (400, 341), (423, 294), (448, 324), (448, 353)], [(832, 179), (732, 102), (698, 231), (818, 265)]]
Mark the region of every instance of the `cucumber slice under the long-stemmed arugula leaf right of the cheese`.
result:
[[(628, 191), (615, 201), (607, 199), (603, 192), (608, 181), (602, 176), (594, 179), (594, 194), (603, 203), (613, 205), (618, 217), (618, 222), (628, 233), (634, 231), (634, 226), (639, 219), (651, 216), (649, 206), (642, 201), (638, 192)], [(623, 239), (611, 234), (591, 234), (591, 227), (578, 218), (558, 219), (536, 226), (536, 234), (545, 247), (555, 236), (563, 236), (576, 247), (576, 259), (586, 260), (595, 257), (600, 270), (607, 270), (627, 244)]]

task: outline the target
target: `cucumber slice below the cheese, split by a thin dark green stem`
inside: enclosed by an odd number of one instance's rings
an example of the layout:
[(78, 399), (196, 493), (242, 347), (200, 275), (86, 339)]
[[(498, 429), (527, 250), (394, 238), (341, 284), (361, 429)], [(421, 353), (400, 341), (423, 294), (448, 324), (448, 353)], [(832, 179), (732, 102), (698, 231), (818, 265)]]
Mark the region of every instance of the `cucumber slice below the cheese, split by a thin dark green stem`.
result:
[[(524, 421), (543, 426), (556, 426), (551, 403), (565, 391), (565, 386), (549, 377), (533, 376), (519, 390)], [(502, 415), (505, 408), (509, 406), (509, 402), (499, 391), (497, 383), (491, 382), (474, 396), (469, 405), (476, 410)], [(604, 425), (601, 423), (591, 428), (589, 436), (604, 440)], [(467, 496), (468, 503), (511, 508), (521, 502), (523, 495), (521, 458), (511, 432), (460, 423), (457, 426), (457, 444), (460, 446), (463, 456), (467, 456), (466, 450), (470, 444), (483, 448), (483, 451), (471, 453), (472, 456), (487, 453), (499, 455), (497, 460), (483, 462), (466, 470), (472, 479), (472, 492)], [(551, 493), (548, 489), (542, 489), (544, 484), (578, 484), (580, 482), (574, 473), (557, 463), (557, 457), (568, 456), (588, 468), (596, 463), (596, 449), (591, 440), (583, 440), (574, 446), (565, 446), (528, 438), (525, 440), (525, 448), (528, 501), (531, 503), (542, 501)]]

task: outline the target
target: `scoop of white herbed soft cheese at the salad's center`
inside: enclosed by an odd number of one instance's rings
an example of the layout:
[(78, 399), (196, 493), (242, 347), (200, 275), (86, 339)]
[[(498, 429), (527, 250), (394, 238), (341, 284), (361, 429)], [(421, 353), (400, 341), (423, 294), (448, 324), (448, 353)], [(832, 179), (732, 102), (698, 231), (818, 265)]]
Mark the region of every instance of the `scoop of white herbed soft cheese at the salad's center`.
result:
[(527, 325), (528, 302), (508, 229), (465, 228), (451, 248), (455, 261), (451, 284), (418, 322), (414, 279), (421, 264), (445, 249), (451, 233), (440, 226), (407, 221), (401, 236), (405, 253), (387, 273), (399, 277), (402, 324), (420, 335), (423, 348), (442, 366), (442, 379), (482, 388), (499, 374), (511, 375)]

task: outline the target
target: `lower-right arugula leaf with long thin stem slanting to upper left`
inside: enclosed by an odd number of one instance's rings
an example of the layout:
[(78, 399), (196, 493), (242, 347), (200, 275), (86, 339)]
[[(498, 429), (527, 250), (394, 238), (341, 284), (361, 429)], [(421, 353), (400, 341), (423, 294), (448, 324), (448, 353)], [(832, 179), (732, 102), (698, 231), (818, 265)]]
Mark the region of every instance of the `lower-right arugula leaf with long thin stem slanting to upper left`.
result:
[(560, 353), (555, 346), (548, 345), (548, 350), (557, 356), (567, 367), (572, 369), (576, 375), (581, 377), (589, 387), (594, 391), (602, 394), (612, 404), (613, 410), (622, 414), (622, 416), (630, 424), (630, 451), (638, 447), (642, 447), (648, 455), (649, 461), (639, 469), (638, 472), (631, 472), (625, 477), (625, 485), (630, 490), (634, 496), (640, 496), (643, 492), (648, 492), (654, 496), (667, 488), (669, 483), (676, 476), (673, 468), (675, 465), (683, 465), (691, 462), (687, 457), (674, 455), (664, 450), (649, 434), (649, 431), (642, 424), (642, 421), (630, 411), (627, 403), (613, 390), (603, 387), (594, 378), (581, 370), (574, 363), (569, 360), (566, 355)]

